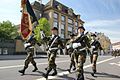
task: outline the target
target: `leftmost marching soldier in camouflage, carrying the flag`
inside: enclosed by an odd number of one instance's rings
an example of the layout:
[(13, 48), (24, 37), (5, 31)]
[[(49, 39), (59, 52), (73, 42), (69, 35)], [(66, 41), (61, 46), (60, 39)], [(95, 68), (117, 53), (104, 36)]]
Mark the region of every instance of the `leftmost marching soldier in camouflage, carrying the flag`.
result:
[(34, 66), (34, 70), (32, 72), (35, 72), (38, 70), (38, 68), (36, 66), (36, 62), (35, 62), (34, 57), (33, 57), (34, 56), (35, 42), (36, 42), (36, 40), (34, 38), (30, 38), (30, 40), (24, 44), (25, 50), (27, 51), (27, 57), (25, 59), (24, 68), (22, 70), (19, 70), (19, 72), (22, 73), (22, 75), (24, 75), (25, 70), (28, 68), (28, 65), (30, 62)]

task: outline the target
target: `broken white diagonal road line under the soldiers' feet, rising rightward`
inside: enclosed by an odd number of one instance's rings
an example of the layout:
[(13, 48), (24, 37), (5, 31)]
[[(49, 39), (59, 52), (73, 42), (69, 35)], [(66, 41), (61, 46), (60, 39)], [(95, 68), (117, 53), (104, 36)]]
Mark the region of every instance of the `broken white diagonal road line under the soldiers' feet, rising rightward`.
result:
[[(103, 60), (103, 61), (99, 61), (96, 64), (101, 64), (101, 63), (110, 61), (112, 59), (115, 59), (115, 57), (112, 57), (112, 58), (109, 58), (109, 59), (106, 59), (106, 60)], [(88, 68), (88, 67), (91, 67), (91, 66), (92, 66), (92, 64), (89, 64), (89, 65), (84, 66), (83, 68), (85, 69), (85, 68)], [(63, 75), (68, 75), (68, 74), (70, 74), (70, 73), (68, 71), (65, 71), (65, 72), (58, 73), (57, 76), (63, 76)], [(48, 76), (48, 79), (55, 79), (55, 78), (57, 78), (57, 76)], [(36, 79), (36, 80), (46, 80), (46, 79), (44, 77), (42, 77), (42, 78), (39, 78), (39, 79)]]

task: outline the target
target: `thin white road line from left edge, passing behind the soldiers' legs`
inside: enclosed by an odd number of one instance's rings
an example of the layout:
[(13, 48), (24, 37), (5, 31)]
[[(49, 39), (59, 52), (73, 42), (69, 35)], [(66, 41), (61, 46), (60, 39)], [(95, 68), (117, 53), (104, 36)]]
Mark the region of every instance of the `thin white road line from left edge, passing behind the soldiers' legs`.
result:
[[(64, 61), (56, 61), (56, 63), (64, 63), (64, 62), (70, 62), (70, 60), (64, 60)], [(43, 65), (43, 64), (48, 64), (48, 62), (45, 63), (37, 63), (37, 65)], [(31, 66), (32, 64), (30, 64)], [(18, 68), (18, 67), (23, 67), (24, 65), (15, 65), (15, 66), (4, 66), (0, 67), (0, 69), (10, 69), (10, 68)]]

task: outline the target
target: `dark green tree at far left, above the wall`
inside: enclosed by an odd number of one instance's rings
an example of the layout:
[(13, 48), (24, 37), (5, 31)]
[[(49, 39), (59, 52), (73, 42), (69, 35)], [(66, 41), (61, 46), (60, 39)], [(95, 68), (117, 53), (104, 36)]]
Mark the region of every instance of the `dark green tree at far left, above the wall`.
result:
[(0, 22), (0, 38), (15, 39), (18, 35), (17, 27), (10, 21)]

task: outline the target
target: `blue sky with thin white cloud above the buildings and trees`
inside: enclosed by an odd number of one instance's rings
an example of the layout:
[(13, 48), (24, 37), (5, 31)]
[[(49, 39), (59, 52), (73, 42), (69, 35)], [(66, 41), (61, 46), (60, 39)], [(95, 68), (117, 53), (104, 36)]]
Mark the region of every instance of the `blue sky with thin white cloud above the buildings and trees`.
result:
[[(33, 2), (35, 0), (29, 0)], [(43, 4), (49, 0), (42, 0)], [(81, 15), (87, 31), (102, 32), (111, 42), (120, 41), (120, 0), (58, 0)], [(0, 1), (0, 22), (20, 24), (21, 0)]]

